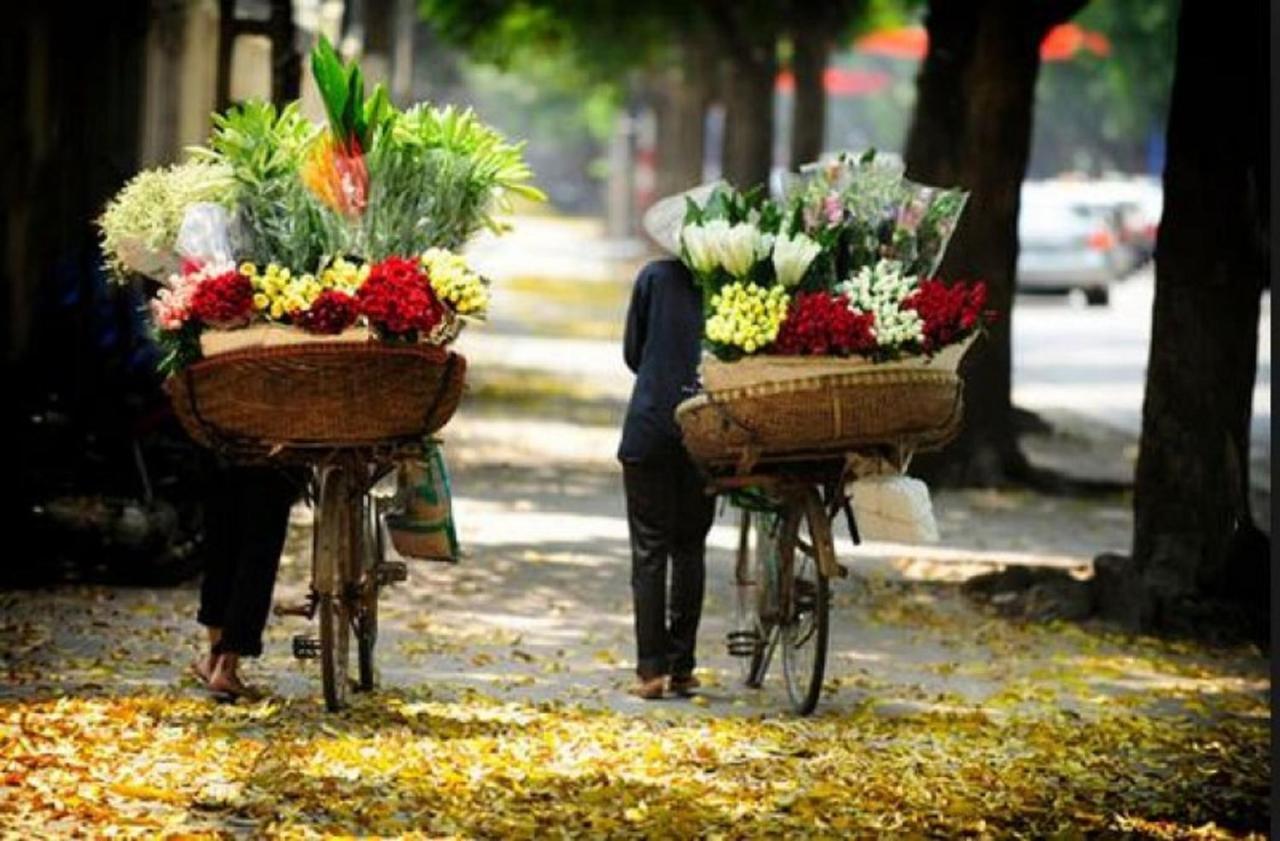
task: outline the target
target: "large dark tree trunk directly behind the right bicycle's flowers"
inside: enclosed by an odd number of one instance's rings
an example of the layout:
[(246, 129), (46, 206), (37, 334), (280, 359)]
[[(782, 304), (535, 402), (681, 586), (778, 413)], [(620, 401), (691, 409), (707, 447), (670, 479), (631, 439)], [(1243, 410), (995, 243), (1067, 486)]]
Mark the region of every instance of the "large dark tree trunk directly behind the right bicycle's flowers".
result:
[(982, 279), (1000, 320), (964, 365), (965, 417), (942, 453), (916, 462), (941, 484), (997, 485), (1028, 475), (1011, 403), (1018, 210), (1030, 156), (1039, 44), (1079, 3), (933, 0), (929, 52), (916, 82), (908, 177), (970, 191), (941, 268)]

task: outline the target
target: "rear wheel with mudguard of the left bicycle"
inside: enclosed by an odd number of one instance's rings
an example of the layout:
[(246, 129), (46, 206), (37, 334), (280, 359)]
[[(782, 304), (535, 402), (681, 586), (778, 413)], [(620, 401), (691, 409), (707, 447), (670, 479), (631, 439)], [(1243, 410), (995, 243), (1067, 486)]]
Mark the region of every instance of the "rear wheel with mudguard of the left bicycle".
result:
[[(358, 549), (356, 529), (360, 501), (346, 467), (328, 467), (320, 476), (320, 501), (312, 538), (312, 581), (319, 590), (320, 681), (325, 707), (347, 705), (347, 666), (351, 657), (351, 607), (346, 599)], [(355, 511), (353, 511), (355, 508)]]

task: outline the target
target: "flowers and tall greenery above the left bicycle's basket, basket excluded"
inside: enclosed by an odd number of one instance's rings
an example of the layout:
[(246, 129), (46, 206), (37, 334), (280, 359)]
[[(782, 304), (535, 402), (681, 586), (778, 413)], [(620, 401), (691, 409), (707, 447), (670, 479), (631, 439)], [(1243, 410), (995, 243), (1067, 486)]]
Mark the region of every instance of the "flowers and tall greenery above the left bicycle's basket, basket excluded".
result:
[(489, 283), (460, 253), (530, 183), (522, 143), (470, 110), (365, 96), (324, 38), (311, 70), (328, 115), (247, 101), (214, 115), (189, 163), (140, 174), (100, 219), (113, 275), (156, 283), (152, 323), (173, 371), (200, 335), (275, 324), (352, 326), (390, 342), (453, 340), (483, 321)]

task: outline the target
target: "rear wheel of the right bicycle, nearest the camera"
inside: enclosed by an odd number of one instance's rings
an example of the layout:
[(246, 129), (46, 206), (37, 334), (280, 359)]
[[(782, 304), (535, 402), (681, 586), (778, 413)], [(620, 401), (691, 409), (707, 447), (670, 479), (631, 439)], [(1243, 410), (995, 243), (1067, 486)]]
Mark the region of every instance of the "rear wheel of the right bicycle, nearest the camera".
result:
[(787, 506), (778, 535), (782, 570), (782, 673), (791, 708), (808, 716), (818, 705), (827, 668), (829, 590), (823, 565), (835, 559), (831, 521), (814, 488)]

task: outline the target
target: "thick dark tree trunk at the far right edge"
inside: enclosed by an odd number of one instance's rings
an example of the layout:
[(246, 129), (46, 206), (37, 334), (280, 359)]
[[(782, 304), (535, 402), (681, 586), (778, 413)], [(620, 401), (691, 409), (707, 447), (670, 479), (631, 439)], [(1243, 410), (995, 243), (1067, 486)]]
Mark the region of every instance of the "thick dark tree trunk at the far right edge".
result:
[(1268, 102), (1265, 1), (1224, 15), (1184, 0), (1133, 558), (1101, 575), (1103, 608), (1143, 630), (1201, 630), (1234, 602), (1225, 616), (1266, 632), (1270, 547), (1248, 508), (1248, 456), (1270, 273)]

